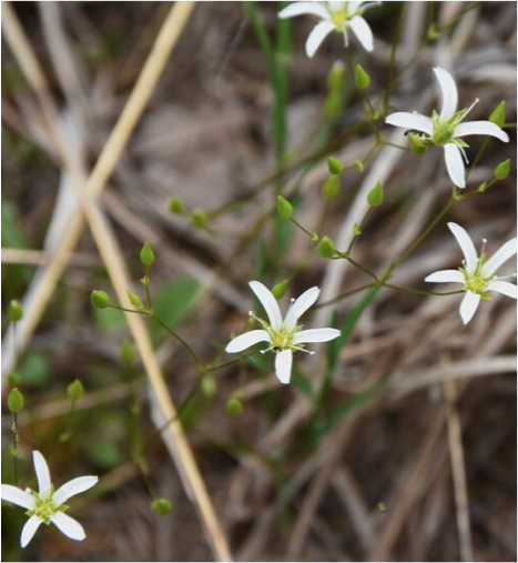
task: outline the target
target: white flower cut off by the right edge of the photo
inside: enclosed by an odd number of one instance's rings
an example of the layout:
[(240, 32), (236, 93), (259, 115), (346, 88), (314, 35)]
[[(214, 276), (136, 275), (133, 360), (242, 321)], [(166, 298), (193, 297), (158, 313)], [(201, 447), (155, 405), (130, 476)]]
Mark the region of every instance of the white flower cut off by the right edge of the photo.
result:
[(506, 242), (488, 260), (484, 250), (480, 257), (477, 255), (475, 244), (469, 234), (460, 225), (448, 223), (448, 227), (464, 253), (464, 268), (434, 272), (425, 281), (437, 283), (458, 282), (464, 285), (466, 295), (460, 303), (460, 316), (464, 324), (467, 324), (473, 319), (480, 300), (489, 299), (488, 291), (496, 291), (509, 298), (518, 299), (518, 286), (502, 281), (502, 278), (495, 275), (495, 272), (504, 262), (518, 253), (518, 237)]

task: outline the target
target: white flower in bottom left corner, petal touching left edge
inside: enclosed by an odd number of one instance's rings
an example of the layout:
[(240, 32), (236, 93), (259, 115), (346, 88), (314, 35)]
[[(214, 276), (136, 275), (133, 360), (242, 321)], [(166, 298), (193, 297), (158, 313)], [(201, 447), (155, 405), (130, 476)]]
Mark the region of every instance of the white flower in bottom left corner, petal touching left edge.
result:
[(84, 540), (83, 526), (64, 513), (68, 509), (64, 502), (71, 496), (91, 489), (98, 482), (98, 477), (72, 479), (54, 492), (45, 459), (40, 452), (32, 452), (32, 459), (38, 479), (38, 493), (30, 489), (22, 491), (18, 486), (2, 484), (2, 501), (12, 502), (12, 504), (27, 509), (27, 514), (30, 516), (21, 532), (21, 546), (26, 547), (41, 524), (50, 524), (51, 522), (71, 540)]

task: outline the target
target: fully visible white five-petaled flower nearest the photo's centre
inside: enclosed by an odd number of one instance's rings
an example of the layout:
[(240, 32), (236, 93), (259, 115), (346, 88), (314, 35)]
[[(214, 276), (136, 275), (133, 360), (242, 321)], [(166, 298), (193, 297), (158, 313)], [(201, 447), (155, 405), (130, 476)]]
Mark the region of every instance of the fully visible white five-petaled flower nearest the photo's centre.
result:
[(304, 349), (306, 342), (327, 342), (339, 336), (341, 331), (336, 329), (312, 329), (303, 331), (297, 325), (298, 319), (315, 303), (321, 290), (311, 288), (305, 291), (297, 300), (292, 300), (283, 320), (277, 301), (273, 293), (261, 282), (251, 281), (248, 284), (252, 291), (257, 295), (270, 323), (257, 319), (252, 311), (250, 314), (263, 326), (263, 330), (253, 330), (241, 334), (232, 340), (225, 351), (233, 354), (242, 352), (257, 342), (268, 342), (270, 348), (263, 352), (273, 350), (275, 355), (275, 374), (281, 383), (290, 383), (292, 374), (293, 352)]

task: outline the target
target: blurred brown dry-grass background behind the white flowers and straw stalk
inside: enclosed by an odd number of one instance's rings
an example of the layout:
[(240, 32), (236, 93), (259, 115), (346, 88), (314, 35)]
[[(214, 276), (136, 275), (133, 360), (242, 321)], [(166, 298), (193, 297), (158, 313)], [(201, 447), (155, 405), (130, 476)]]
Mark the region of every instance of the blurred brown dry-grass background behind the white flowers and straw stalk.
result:
[[(455, 204), (393, 282), (429, 291), (428, 273), (458, 268), (447, 221), (466, 228), (479, 251), (487, 239), (488, 253), (516, 237), (518, 3), (385, 0), (364, 14), (372, 53), (354, 36), (345, 51), (332, 33), (313, 59), (304, 43), (315, 20), (281, 22), (287, 2), (192, 3), (97, 201), (129, 289), (144, 299), (139, 252), (150, 241), (156, 315), (202, 364), (217, 366), (201, 378), (189, 351), (148, 323), (234, 560), (516, 562), (515, 303), (495, 295), (465, 328), (459, 295), (384, 288), (337, 299), (372, 280), (321, 258), (275, 205), (282, 193), (305, 229), (345, 250), (339, 241), (362, 220), (355, 209), (365, 190), (383, 181), (384, 204), (354, 248), (355, 260), (382, 275), (450, 199), (443, 151), (413, 154), (404, 131), (384, 124), (392, 111), (440, 109), (431, 71), (440, 66), (456, 79), (459, 109), (479, 98), (469, 120), (487, 120), (506, 101), (511, 141), (468, 139), (476, 167), (467, 192), (492, 180), (498, 163), (515, 162), (508, 179)], [(34, 486), (32, 450), (45, 454), (57, 486), (84, 474), (100, 475), (100, 484), (70, 502), (87, 531), (81, 543), (42, 526), (20, 551), (27, 516), (2, 505), (2, 562), (216, 561), (174, 445), (160, 432), (166, 420), (150, 402), (146, 370), (129, 351), (124, 314), (91, 305), (92, 290), (116, 302), (112, 265), (79, 219), (63, 163), (64, 154), (88, 178), (172, 2), (10, 4), (47, 87), (34, 90), (20, 67), (21, 43), (8, 44), (14, 24), (2, 2), (2, 396), (16, 385), (26, 400), (18, 415), (23, 486)], [(354, 84), (356, 64), (370, 77), (374, 119)], [(346, 167), (334, 199), (323, 194), (329, 155)], [(73, 229), (78, 243), (65, 249)], [(517, 271), (511, 260), (501, 273)], [(323, 288), (329, 304), (305, 325), (347, 335), (345, 345), (296, 354), (290, 386), (278, 384), (270, 354), (226, 365), (236, 360), (224, 353), (231, 335), (247, 329), (251, 309), (261, 313), (247, 286), (254, 279), (268, 286), (287, 280), (284, 308)], [(14, 330), (6, 314), (13, 299), (23, 304)], [(75, 379), (85, 392), (72, 406), (67, 386)], [(2, 413), (2, 482), (12, 483), (13, 421)], [(151, 509), (156, 497), (172, 502), (170, 514)]]

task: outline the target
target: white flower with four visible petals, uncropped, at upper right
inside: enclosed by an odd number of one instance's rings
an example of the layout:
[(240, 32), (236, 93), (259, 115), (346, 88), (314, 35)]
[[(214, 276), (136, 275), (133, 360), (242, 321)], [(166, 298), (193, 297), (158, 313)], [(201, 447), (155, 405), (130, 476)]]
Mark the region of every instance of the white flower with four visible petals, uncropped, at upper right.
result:
[(399, 111), (388, 115), (385, 121), (390, 125), (418, 131), (423, 133), (423, 139), (426, 141), (437, 147), (444, 147), (449, 178), (455, 185), (466, 188), (466, 168), (464, 161), (467, 163), (468, 160), (464, 148), (468, 147), (468, 144), (461, 138), (469, 134), (489, 134), (500, 139), (500, 141), (508, 142), (509, 135), (490, 121), (468, 121), (467, 123), (461, 123), (471, 108), (479, 101), (478, 98), (468, 109), (457, 111), (458, 92), (455, 80), (444, 69), (435, 68), (434, 72), (439, 81), (443, 93), (443, 109), (440, 113), (434, 110), (431, 118), (428, 118), (416, 111), (413, 113)]

